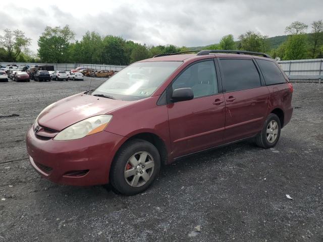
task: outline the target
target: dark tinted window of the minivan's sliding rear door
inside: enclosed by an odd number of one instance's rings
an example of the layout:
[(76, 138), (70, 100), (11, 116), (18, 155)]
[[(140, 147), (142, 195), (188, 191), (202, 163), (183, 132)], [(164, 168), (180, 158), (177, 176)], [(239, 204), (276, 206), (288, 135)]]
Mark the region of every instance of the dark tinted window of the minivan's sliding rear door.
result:
[(251, 59), (220, 59), (227, 92), (260, 87), (260, 76)]

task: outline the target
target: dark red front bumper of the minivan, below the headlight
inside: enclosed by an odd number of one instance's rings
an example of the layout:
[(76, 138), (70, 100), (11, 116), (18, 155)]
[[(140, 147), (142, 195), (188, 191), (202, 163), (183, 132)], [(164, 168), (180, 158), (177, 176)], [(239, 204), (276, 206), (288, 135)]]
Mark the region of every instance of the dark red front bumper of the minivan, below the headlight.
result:
[(106, 131), (78, 140), (46, 140), (30, 128), (26, 146), (31, 165), (42, 177), (58, 184), (93, 186), (109, 183), (111, 163), (124, 140)]

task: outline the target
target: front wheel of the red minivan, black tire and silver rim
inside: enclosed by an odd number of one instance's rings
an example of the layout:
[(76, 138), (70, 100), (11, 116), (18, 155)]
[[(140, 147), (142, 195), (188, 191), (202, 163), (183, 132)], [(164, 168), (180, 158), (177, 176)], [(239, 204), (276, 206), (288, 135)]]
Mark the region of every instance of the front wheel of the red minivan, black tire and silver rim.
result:
[[(146, 157), (145, 165), (138, 164), (142, 157)], [(133, 165), (134, 163), (137, 166)], [(128, 178), (126, 178), (127, 170)], [(110, 169), (110, 182), (117, 192), (129, 196), (136, 195), (152, 184), (159, 170), (160, 155), (156, 147), (145, 140), (133, 139), (126, 142), (117, 152)]]

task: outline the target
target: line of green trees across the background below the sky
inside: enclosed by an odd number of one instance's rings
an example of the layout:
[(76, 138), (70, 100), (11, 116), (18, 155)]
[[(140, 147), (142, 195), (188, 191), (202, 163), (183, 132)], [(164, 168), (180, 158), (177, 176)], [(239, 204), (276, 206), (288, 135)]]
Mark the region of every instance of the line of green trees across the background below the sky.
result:
[[(238, 41), (229, 34), (223, 36), (219, 43), (201, 49), (266, 52), (282, 60), (322, 58), (322, 20), (312, 22), (310, 33), (306, 33), (307, 29), (308, 26), (302, 22), (291, 23), (285, 29), (288, 34), (286, 41), (276, 48), (271, 47), (267, 35), (247, 31), (238, 37)], [(63, 28), (47, 26), (37, 43), (36, 54), (29, 50), (31, 39), (24, 32), (6, 29), (4, 35), (0, 36), (0, 61), (129, 65), (156, 54), (191, 50), (172, 44), (140, 44), (119, 36), (102, 36), (94, 31), (87, 31), (80, 40), (75, 40), (75, 32), (68, 25)]]

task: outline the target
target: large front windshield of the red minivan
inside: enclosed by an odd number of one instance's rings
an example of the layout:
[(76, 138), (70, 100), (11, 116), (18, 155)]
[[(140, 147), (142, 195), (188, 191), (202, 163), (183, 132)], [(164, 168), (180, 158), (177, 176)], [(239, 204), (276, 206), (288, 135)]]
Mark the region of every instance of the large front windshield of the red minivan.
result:
[(149, 97), (182, 63), (139, 62), (132, 64), (103, 82), (91, 95), (103, 94), (126, 101)]

